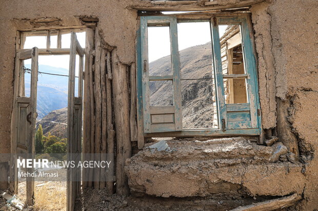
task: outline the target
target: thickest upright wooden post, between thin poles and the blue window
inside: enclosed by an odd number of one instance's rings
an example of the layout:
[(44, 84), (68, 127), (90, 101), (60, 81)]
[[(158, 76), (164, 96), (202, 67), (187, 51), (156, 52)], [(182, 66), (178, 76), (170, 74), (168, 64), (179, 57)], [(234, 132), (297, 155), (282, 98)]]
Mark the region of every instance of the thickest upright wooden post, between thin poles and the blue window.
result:
[(124, 167), (131, 157), (129, 128), (129, 100), (127, 84), (127, 66), (118, 61), (117, 50), (112, 51), (114, 115), (116, 128), (116, 193), (129, 195), (128, 179)]

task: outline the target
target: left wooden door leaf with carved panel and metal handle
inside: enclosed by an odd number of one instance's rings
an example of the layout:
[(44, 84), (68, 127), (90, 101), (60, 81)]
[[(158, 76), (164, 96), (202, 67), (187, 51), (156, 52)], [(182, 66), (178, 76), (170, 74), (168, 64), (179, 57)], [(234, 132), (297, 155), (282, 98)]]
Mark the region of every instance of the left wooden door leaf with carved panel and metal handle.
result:
[[(30, 96), (25, 95), (24, 60), (31, 59)], [(10, 191), (17, 193), (17, 154), (23, 158), (34, 158), (36, 127), (36, 89), (38, 72), (38, 49), (17, 53), (15, 60), (14, 101), (11, 121)], [(27, 171), (32, 173), (33, 168)], [(34, 178), (27, 177), (26, 205), (34, 202)]]

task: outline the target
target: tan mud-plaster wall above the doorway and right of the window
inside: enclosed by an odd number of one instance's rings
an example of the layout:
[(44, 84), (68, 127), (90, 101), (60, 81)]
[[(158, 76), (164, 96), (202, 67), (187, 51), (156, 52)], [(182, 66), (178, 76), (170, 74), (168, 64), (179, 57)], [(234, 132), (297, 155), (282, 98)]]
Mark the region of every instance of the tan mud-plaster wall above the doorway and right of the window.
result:
[[(142, 2), (0, 0), (0, 153), (10, 152), (16, 31), (81, 26), (82, 17), (96, 17), (103, 44), (117, 49), (121, 63), (131, 64), (135, 60), (137, 11), (130, 5), (147, 4)], [(239, 1), (220, 2), (226, 5)], [(317, 7), (314, 0), (272, 0), (251, 7), (262, 124), (263, 128), (275, 127), (277, 101), (288, 102), (286, 119), (304, 163), (305, 200), (299, 205), (301, 210), (318, 207)]]

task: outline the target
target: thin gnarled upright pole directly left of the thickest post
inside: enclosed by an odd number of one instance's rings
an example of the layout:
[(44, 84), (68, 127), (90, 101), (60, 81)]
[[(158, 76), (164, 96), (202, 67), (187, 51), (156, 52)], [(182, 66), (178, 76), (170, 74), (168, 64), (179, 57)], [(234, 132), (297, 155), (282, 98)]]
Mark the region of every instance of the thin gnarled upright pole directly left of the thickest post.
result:
[(107, 52), (107, 80), (106, 80), (106, 104), (107, 104), (107, 160), (111, 160), (108, 172), (106, 172), (106, 190), (108, 194), (114, 193), (114, 137), (115, 131), (113, 130), (113, 106), (112, 106), (112, 96), (111, 96), (111, 79), (109, 73), (111, 74), (111, 54)]

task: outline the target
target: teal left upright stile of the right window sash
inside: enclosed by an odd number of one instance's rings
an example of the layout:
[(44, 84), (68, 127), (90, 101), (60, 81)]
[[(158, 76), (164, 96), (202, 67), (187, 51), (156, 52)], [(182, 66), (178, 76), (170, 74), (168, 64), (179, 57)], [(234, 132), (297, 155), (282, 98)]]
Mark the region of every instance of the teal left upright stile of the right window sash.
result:
[[(222, 119), (227, 122), (225, 97), (224, 97), (224, 85), (223, 85), (223, 73), (221, 63), (221, 46), (220, 36), (218, 34), (217, 20), (215, 17), (211, 18), (211, 29), (212, 29), (212, 42), (213, 42), (213, 58), (214, 58), (214, 75), (216, 81), (216, 99), (217, 99), (217, 110), (218, 110), (218, 125), (222, 125)], [(226, 128), (225, 128), (226, 129)]]

